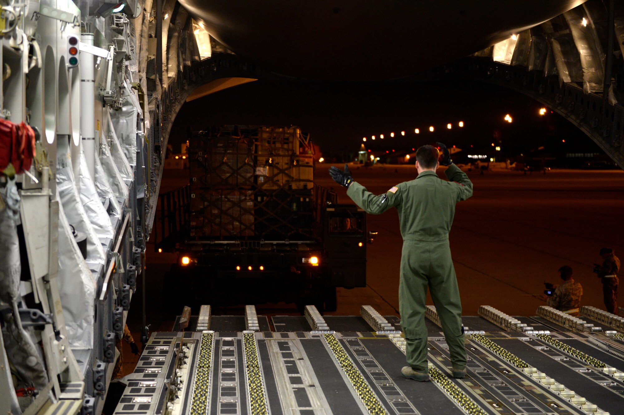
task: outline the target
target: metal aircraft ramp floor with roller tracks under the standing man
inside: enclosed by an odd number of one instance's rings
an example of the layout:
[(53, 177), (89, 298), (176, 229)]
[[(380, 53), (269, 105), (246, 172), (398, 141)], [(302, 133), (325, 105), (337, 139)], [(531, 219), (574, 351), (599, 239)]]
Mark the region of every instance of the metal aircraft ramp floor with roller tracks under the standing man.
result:
[(183, 333), (152, 333), (114, 414), (624, 413), (624, 345), (608, 325), (584, 322), (598, 329), (580, 332), (542, 316), (507, 316), (520, 327), (510, 331), (485, 315), (463, 317), (468, 372), (452, 379), (432, 313), (427, 383), (402, 378), (399, 319), (372, 308), (325, 317), (306, 308), (305, 316), (271, 317), (275, 331), (253, 307), (210, 317), (208, 330), (193, 331), (190, 318)]

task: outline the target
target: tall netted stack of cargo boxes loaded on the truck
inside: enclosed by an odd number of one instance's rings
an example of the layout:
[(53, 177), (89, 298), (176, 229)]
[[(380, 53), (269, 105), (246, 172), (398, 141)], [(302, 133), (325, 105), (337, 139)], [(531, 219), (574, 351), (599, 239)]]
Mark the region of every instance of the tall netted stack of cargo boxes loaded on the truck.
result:
[(220, 126), (189, 139), (191, 239), (314, 239), (313, 145), (300, 128)]

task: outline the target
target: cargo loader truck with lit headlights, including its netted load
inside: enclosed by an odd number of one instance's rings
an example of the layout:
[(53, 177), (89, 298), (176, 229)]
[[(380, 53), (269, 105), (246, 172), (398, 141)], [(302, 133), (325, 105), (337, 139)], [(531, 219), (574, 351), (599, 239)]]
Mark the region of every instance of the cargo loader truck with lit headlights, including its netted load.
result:
[(191, 131), (190, 184), (160, 195), (156, 249), (178, 253), (165, 298), (333, 311), (336, 287), (366, 286), (376, 232), (366, 212), (314, 184), (313, 151), (296, 126)]

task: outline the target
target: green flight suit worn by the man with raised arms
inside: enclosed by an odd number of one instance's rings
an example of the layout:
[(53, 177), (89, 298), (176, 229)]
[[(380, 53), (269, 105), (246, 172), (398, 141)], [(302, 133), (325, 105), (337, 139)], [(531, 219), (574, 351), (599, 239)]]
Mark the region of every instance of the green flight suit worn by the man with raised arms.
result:
[(442, 323), (454, 369), (466, 367), (462, 333), (462, 305), (449, 247), (455, 204), (472, 196), (472, 182), (459, 167), (444, 172), (423, 171), (411, 181), (397, 184), (375, 196), (359, 183), (351, 183), (349, 198), (364, 211), (380, 214), (391, 207), (399, 211), (403, 249), (399, 281), (399, 312), (406, 338), (407, 364), (428, 372), (427, 327), (424, 321), (427, 285)]

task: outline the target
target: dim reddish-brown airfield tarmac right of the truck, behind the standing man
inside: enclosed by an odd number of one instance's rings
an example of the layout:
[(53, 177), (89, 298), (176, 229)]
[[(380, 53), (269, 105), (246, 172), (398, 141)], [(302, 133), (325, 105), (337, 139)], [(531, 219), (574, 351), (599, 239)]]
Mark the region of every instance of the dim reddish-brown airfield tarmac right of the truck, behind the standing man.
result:
[[(329, 166), (316, 166), (316, 183), (333, 186), (339, 203), (352, 203), (323, 173)], [(412, 165), (352, 170), (354, 179), (376, 194), (416, 176)], [(442, 169), (438, 174), (446, 177)], [(583, 285), (581, 305), (604, 308), (602, 285), (592, 269), (602, 264), (601, 247), (624, 255), (623, 171), (552, 169), (524, 175), (497, 169), (468, 175), (474, 194), (457, 204), (450, 235), (464, 315), (476, 315), (480, 305), (534, 315), (545, 304), (538, 298), (544, 282), (557, 284), (562, 265), (570, 265)], [(381, 313), (398, 309), (402, 239), (396, 209), (369, 215), (368, 227), (379, 231), (368, 247), (368, 287), (339, 289), (338, 315), (357, 313), (364, 303)]]

